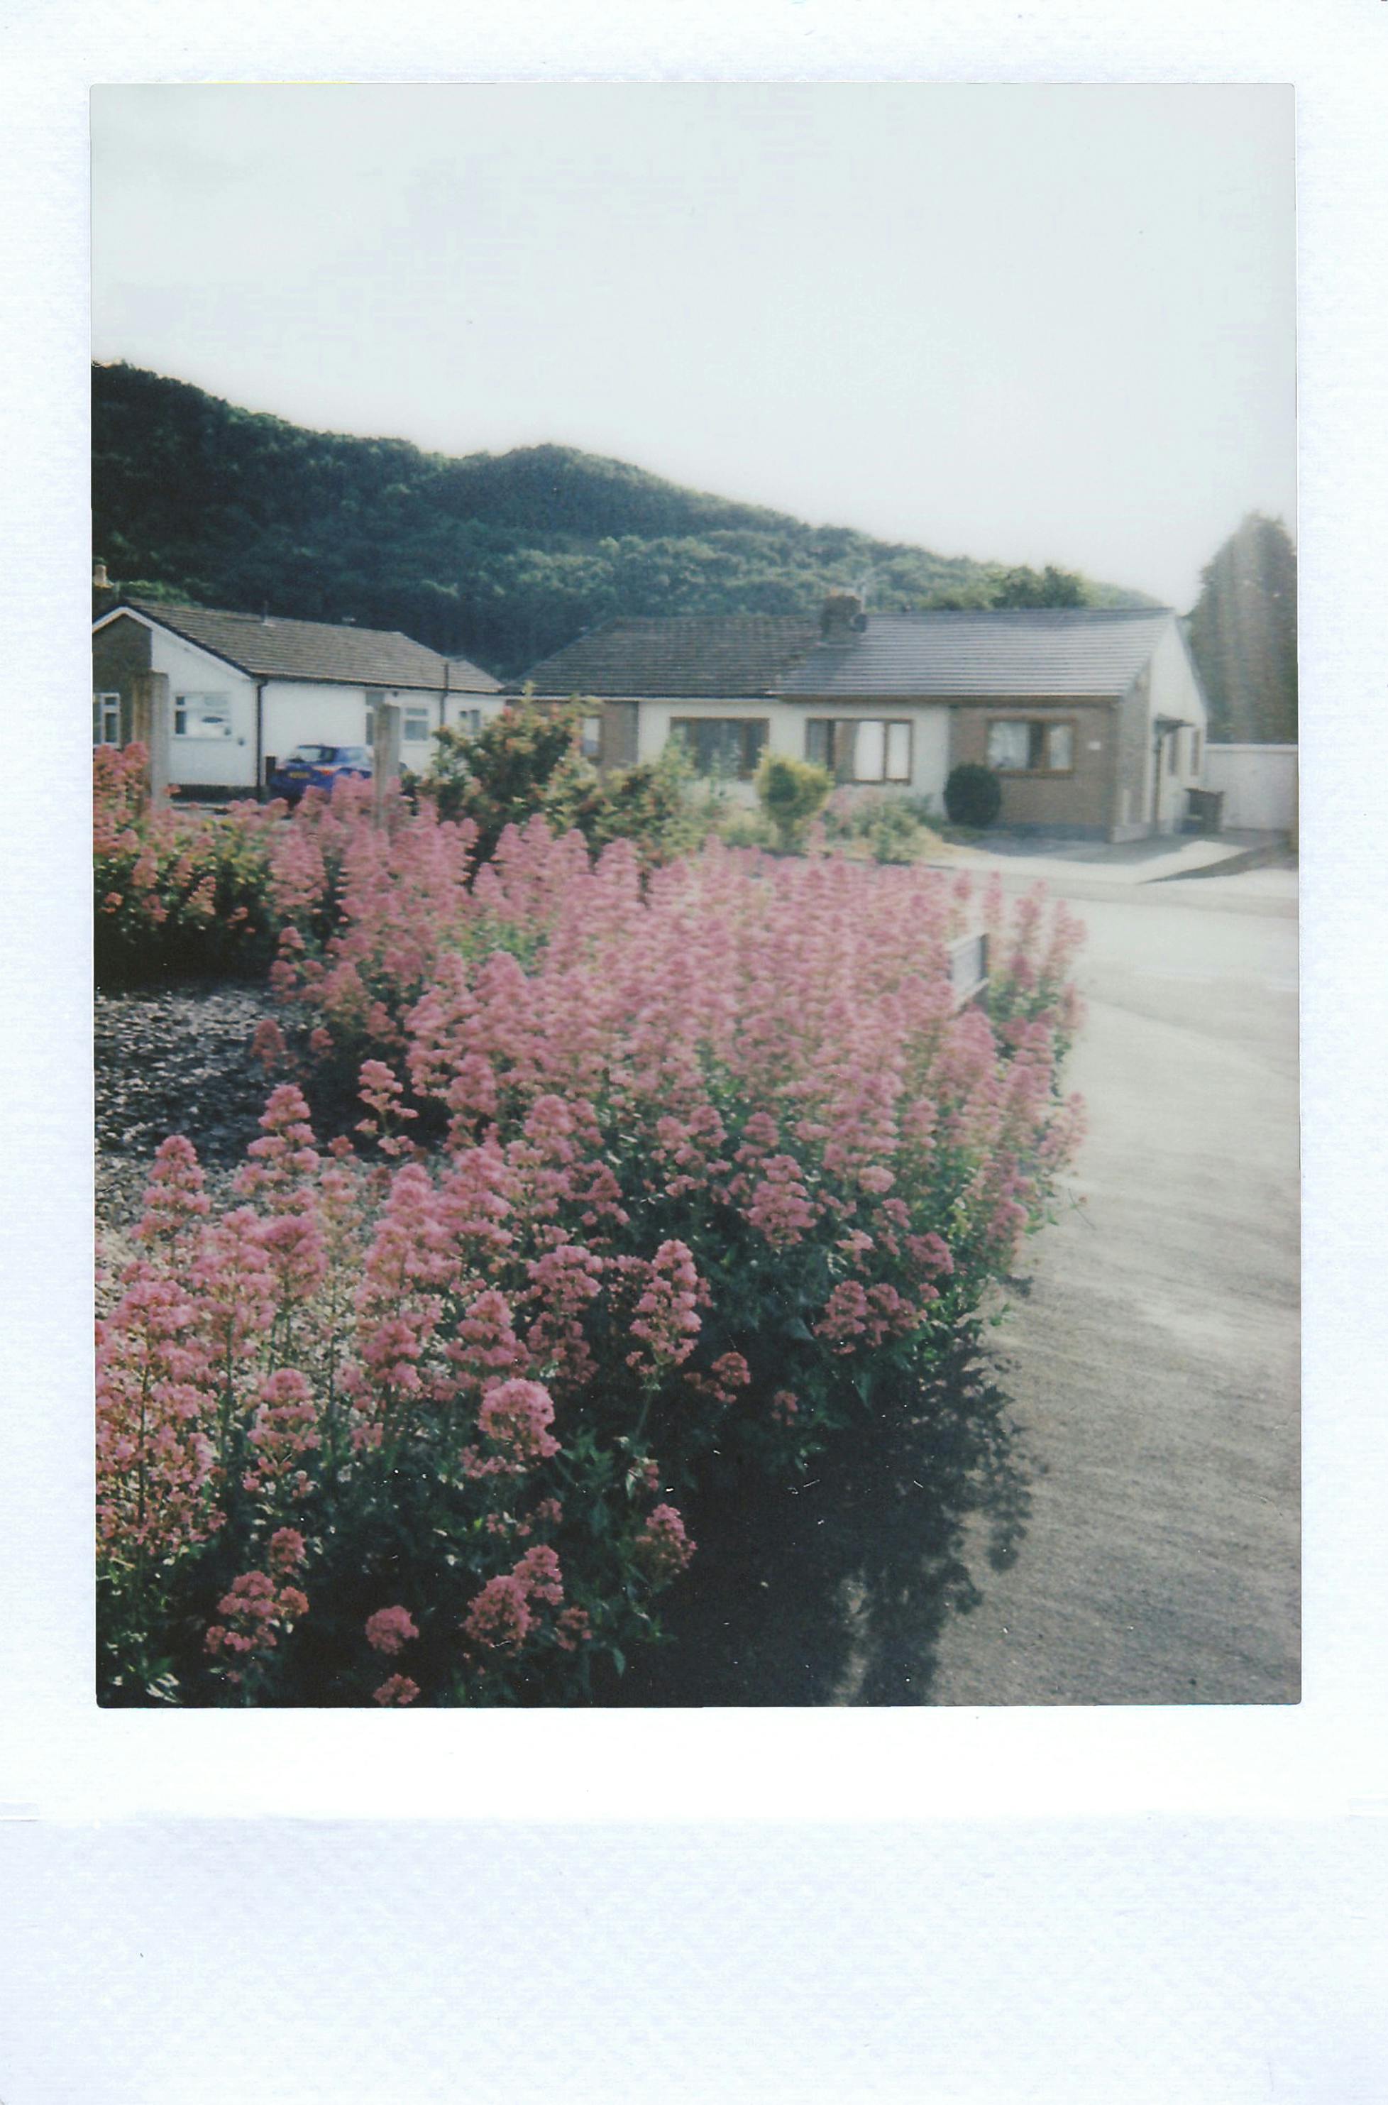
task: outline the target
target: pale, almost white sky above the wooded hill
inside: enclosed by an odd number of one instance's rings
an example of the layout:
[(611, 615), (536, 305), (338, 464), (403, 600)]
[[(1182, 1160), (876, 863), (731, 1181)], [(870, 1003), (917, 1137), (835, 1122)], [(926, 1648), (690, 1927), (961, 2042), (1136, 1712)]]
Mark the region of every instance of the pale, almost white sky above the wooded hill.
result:
[(95, 356), (1188, 608), (1295, 503), (1289, 88), (93, 97)]

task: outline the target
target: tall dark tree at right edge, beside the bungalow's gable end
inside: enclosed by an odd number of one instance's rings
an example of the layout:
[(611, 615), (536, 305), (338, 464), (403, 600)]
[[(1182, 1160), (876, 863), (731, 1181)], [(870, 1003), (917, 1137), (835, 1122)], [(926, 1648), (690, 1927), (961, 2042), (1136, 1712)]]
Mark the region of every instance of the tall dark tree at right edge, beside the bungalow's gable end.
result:
[(1249, 512), (1201, 579), (1190, 655), (1209, 697), (1209, 737), (1295, 743), (1297, 556), (1287, 528)]

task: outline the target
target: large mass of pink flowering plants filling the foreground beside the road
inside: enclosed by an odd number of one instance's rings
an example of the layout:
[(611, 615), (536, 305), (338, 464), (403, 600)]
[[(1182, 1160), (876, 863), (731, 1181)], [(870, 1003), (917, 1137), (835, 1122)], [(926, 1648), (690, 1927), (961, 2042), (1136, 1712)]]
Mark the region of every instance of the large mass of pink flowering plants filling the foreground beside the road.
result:
[(225, 1206), (160, 1149), (101, 1337), (105, 1701), (602, 1701), (710, 1471), (918, 1410), (1053, 1210), (1078, 928), (541, 821), (474, 874), (341, 798), (289, 838), (280, 1042), (366, 1116), (324, 1151), (280, 1084)]

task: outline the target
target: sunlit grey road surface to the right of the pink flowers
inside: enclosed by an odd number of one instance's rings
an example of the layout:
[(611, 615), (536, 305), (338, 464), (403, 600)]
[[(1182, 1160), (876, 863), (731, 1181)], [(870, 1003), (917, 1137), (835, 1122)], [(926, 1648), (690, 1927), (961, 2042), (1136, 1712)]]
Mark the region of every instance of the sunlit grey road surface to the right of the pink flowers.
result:
[[(1051, 888), (1066, 888), (1051, 871)], [(996, 1332), (1034, 1465), (933, 1703), (1300, 1690), (1295, 874), (1080, 886), (1078, 1204)]]

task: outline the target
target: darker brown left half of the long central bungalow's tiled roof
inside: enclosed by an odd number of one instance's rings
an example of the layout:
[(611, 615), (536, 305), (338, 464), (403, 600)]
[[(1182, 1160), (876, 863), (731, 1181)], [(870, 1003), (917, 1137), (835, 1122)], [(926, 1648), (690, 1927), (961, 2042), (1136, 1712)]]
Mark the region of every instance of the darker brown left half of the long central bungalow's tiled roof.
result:
[(541, 659), (537, 695), (765, 695), (819, 638), (811, 615), (609, 621)]

